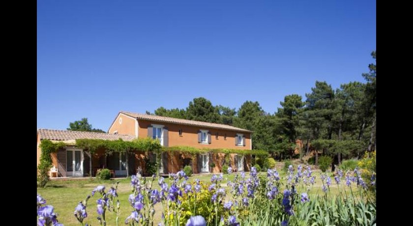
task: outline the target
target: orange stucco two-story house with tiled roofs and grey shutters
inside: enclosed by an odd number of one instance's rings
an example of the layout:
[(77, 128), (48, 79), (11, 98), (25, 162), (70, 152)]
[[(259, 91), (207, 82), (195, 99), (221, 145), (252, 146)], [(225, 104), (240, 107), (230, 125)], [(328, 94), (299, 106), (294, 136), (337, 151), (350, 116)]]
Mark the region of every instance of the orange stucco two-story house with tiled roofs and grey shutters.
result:
[[(52, 154), (53, 164), (59, 169), (59, 176), (88, 175), (90, 156), (82, 149), (74, 146), (76, 139), (102, 139), (131, 141), (136, 138), (158, 139), (164, 147), (189, 146), (200, 149), (252, 149), (251, 131), (230, 125), (202, 121), (178, 119), (157, 115), (131, 113), (121, 111), (109, 127), (108, 134), (78, 131), (46, 130), (37, 131), (37, 163), (39, 163), (41, 140), (64, 141), (66, 148)], [(92, 168), (108, 168), (117, 176), (126, 175), (126, 164), (129, 172), (143, 169), (145, 171), (145, 153), (135, 151), (128, 155), (128, 163), (124, 153), (105, 155), (104, 150), (94, 153)], [(220, 172), (225, 154), (202, 153), (188, 156), (179, 152), (163, 152), (161, 156), (161, 173), (177, 172), (185, 165), (192, 166), (194, 173)], [(228, 156), (227, 156), (228, 158)], [(249, 170), (250, 156), (229, 154), (229, 163), (237, 171)]]

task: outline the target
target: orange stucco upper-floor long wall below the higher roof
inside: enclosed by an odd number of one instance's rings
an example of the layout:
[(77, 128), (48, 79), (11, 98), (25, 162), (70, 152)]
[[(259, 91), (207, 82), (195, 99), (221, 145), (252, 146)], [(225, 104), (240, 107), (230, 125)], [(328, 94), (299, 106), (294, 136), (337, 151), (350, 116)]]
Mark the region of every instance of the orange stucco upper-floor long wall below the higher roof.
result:
[[(168, 127), (168, 146), (191, 146), (199, 148), (230, 148), (240, 150), (250, 150), (251, 148), (251, 134), (241, 133), (236, 131), (226, 131), (220, 129), (203, 128), (196, 126), (178, 125), (164, 122), (154, 122), (148, 120), (138, 120), (138, 134), (140, 138), (146, 138), (148, 136), (148, 126), (150, 124), (164, 125)], [(123, 125), (123, 123), (122, 123)], [(179, 129), (182, 129), (182, 136), (179, 136)], [(211, 143), (203, 144), (198, 143), (198, 131), (208, 130), (211, 133)], [(215, 134), (218, 133), (218, 139), (215, 138)], [(245, 146), (235, 145), (236, 134), (243, 134), (245, 136)], [(227, 135), (224, 139), (224, 135)], [(132, 135), (132, 134), (130, 134)]]

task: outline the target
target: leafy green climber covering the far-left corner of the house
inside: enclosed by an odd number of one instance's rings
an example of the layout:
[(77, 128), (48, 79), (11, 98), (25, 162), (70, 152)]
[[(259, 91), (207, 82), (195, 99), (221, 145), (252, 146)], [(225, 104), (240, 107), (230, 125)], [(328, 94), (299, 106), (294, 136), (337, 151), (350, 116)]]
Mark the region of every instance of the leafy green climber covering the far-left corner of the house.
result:
[(42, 140), (39, 147), (41, 149), (40, 153), (40, 163), (37, 166), (37, 186), (44, 188), (49, 181), (49, 170), (52, 167), (52, 156), (53, 152), (58, 151), (60, 148), (66, 146), (63, 142), (52, 142), (49, 140)]

